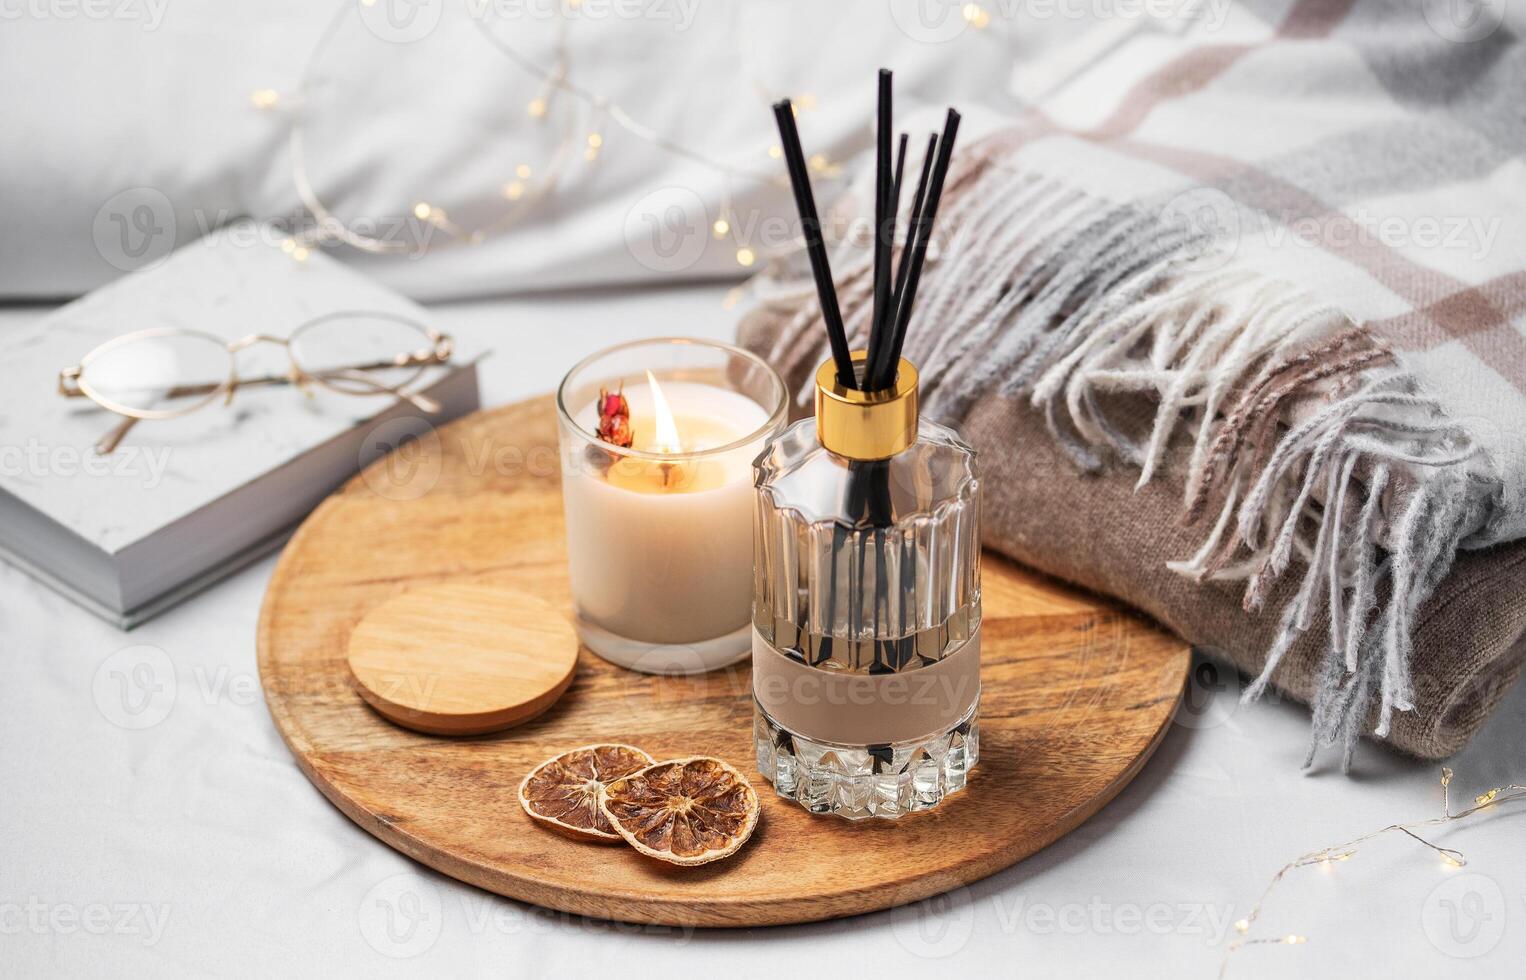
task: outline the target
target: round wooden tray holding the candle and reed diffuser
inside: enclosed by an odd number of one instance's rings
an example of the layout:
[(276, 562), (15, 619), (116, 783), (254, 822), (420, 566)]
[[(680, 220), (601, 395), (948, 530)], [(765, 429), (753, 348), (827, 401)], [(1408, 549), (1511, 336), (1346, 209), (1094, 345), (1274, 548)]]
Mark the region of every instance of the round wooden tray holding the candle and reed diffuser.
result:
[[(540, 717), (452, 739), (386, 722), (345, 662), (349, 630), (398, 592), (476, 579), (569, 608), (551, 398), (420, 435), (298, 530), (259, 617), (270, 714), (308, 779), (363, 829), (461, 881), (551, 908), (681, 927), (809, 922), (890, 908), (1032, 855), (1097, 812), (1170, 722), (1189, 647), (1106, 600), (993, 554), (983, 569), (980, 765), (938, 809), (899, 821), (813, 817), (757, 775), (746, 664), (697, 678), (578, 653)], [(565, 840), (516, 800), (536, 763), (591, 742), (710, 754), (752, 777), (758, 830), (682, 869)]]

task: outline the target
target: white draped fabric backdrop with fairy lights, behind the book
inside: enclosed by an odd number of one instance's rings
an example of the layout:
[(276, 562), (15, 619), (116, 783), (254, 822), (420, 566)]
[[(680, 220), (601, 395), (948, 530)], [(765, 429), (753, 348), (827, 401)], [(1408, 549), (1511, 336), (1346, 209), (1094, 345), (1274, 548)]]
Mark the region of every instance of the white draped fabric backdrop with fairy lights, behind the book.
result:
[[(472, 11), (490, 11), (478, 20), (549, 66), (557, 29), (536, 15), (549, 0), (382, 0), (372, 8), (345, 0), (110, 0), (136, 17), (15, 15), (32, 9), (24, 5), (53, 11), (70, 3), (78, 0), (0, 5), (8, 221), (0, 296), (84, 292), (240, 215), (304, 227), (287, 118), (255, 108), (250, 95), (296, 90), (336, 11), (345, 12), (311, 66), (299, 110), (308, 176), (342, 218), (389, 229), (406, 246), (403, 256), (349, 256), (389, 285), (439, 299), (737, 276), (736, 244), (710, 243), (705, 234), (728, 195), (739, 212), (734, 224), (757, 229), (775, 247), (787, 244), (760, 224), (792, 211), (780, 183), (717, 176), (607, 118), (589, 118), (568, 96), (557, 96), (543, 125), (526, 114), (539, 81), (493, 49)], [(165, 5), (157, 20), (156, 3)], [(786, 95), (816, 99), (800, 118), (807, 153), (839, 160), (868, 147), (877, 66), (897, 72), (902, 119), (934, 102), (1010, 105), (1003, 95), (1010, 44), (972, 31), (946, 44), (917, 43), (903, 29), (917, 21), (894, 17), (881, 0), (615, 3), (589, 0), (569, 21), (571, 79), (665, 137), (743, 171), (783, 174), (768, 156), (778, 139), (769, 104)], [(410, 5), (418, 12), (409, 31), (371, 29), (385, 27), (374, 18), (388, 8), (407, 14)], [(645, 15), (609, 12), (620, 9)], [(957, 14), (954, 23), (961, 23)], [(1074, 21), (1045, 29), (1065, 27)], [(501, 188), (519, 163), (545, 172), (565, 108), (574, 111), (568, 125), (577, 142), (555, 192), (530, 208), (513, 235), (438, 247), (446, 235), (414, 218), (414, 205), (444, 208), (464, 227), (490, 224), (508, 206)], [(583, 140), (594, 128), (604, 145), (589, 166)], [(823, 197), (829, 191), (830, 183), (819, 186)], [(159, 230), (143, 256), (128, 256), (113, 221), (143, 205)], [(642, 261), (649, 215), (696, 230), (699, 252)], [(131, 232), (133, 249), (140, 234), (148, 232)], [(421, 246), (430, 252), (420, 255)]]

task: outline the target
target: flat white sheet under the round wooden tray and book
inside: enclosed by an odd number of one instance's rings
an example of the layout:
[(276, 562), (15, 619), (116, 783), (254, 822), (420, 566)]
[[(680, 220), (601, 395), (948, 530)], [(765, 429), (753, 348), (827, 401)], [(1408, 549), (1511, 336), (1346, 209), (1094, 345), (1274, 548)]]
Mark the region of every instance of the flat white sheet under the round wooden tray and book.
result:
[[(499, 405), (548, 391), (606, 343), (668, 330), (729, 336), (722, 293), (606, 292), (436, 313), (472, 350), (499, 350), (482, 365), (484, 403)], [(0, 311), (0, 331), (41, 314)], [(1238, 707), (1233, 688), (1199, 685), (1199, 707), (1117, 800), (949, 899), (691, 936), (543, 913), (389, 850), (298, 771), (255, 667), (272, 566), (121, 633), (0, 565), (0, 972), (1212, 977), (1222, 937), (1209, 916), (1224, 928), (1245, 914), (1271, 875), (1306, 850), (1439, 812), (1437, 766), (1364, 745), (1351, 777), (1303, 774), (1303, 708)], [(142, 676), (172, 673), (172, 698), (165, 684), (143, 714), (124, 714), (111, 672), (131, 678), (133, 664), (156, 661)], [(160, 713), (143, 730), (113, 720)], [(1521, 780), (1523, 733), (1526, 687), (1517, 685), (1451, 762), (1457, 798)], [(1264, 924), (1308, 943), (1247, 949), (1230, 977), (1514, 975), (1526, 962), (1523, 817), (1502, 811), (1436, 835), (1468, 855), (1463, 870), (1390, 835), (1335, 870), (1294, 873)], [(1482, 904), (1457, 905), (1470, 891)], [(29, 904), (43, 910), (41, 931)], [(118, 905), (133, 910), (122, 931), (93, 934), (78, 919)], [(157, 940), (140, 907), (165, 910)], [(406, 913), (421, 913), (410, 939), (386, 939), (389, 908), (400, 937), (414, 920)], [(1457, 933), (1450, 914), (1462, 916)], [(1466, 959), (1474, 953), (1485, 956)]]

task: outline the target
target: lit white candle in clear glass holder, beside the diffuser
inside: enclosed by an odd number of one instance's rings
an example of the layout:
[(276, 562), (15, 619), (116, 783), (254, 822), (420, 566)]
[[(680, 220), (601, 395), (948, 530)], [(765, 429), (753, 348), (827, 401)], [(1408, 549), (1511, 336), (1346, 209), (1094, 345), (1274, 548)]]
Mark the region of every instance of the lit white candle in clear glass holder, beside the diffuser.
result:
[[(600, 438), (604, 394), (629, 446)], [(786, 388), (728, 343), (661, 337), (600, 351), (557, 391), (575, 624), (607, 661), (697, 673), (751, 650), (752, 459)]]

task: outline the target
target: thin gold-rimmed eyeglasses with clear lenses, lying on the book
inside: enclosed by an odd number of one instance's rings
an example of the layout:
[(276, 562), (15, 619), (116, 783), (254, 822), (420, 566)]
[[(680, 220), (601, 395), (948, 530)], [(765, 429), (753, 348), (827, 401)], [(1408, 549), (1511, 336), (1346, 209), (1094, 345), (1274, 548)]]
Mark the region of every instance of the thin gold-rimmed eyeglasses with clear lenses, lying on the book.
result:
[[(238, 351), (256, 343), (279, 343), (290, 369), (262, 377), (238, 376)], [(221, 397), (256, 385), (295, 385), (311, 395), (319, 386), (342, 395), (394, 395), (420, 411), (439, 405), (407, 391), (424, 368), (450, 360), (447, 334), (394, 313), (340, 311), (307, 321), (288, 337), (256, 333), (238, 340), (197, 330), (156, 327), (113, 337), (58, 372), (58, 394), (90, 398), (122, 415), (96, 443), (98, 453), (113, 452), (134, 424), (145, 418), (175, 418), (206, 408)]]

